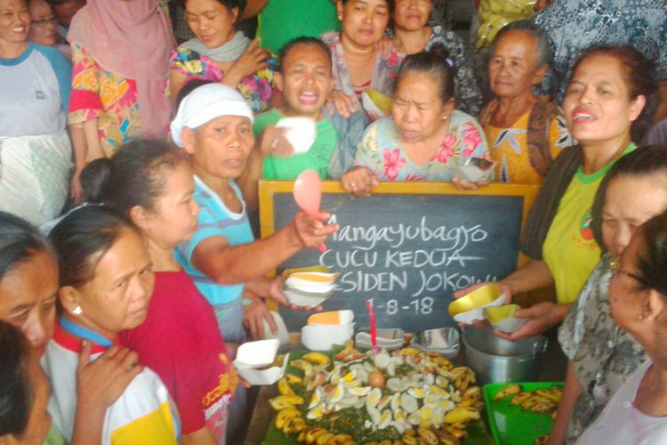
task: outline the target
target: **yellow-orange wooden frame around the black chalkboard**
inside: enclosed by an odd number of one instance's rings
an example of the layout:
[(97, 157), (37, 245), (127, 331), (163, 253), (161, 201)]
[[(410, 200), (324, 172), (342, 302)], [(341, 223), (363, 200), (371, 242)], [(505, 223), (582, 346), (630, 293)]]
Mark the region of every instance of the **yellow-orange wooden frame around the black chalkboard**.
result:
[[(276, 193), (291, 193), (293, 181), (260, 181), (260, 233), (261, 238), (269, 237), (276, 231), (273, 212), (273, 196)], [(520, 197), (524, 200), (524, 211), (521, 218), (521, 230), (526, 225), (530, 208), (533, 206), (538, 187), (536, 185), (492, 183), (479, 190), (459, 190), (452, 182), (382, 182), (374, 193), (396, 195), (469, 195), (469, 196), (504, 196)], [(348, 192), (342, 188), (341, 182), (323, 181), (322, 193)], [(363, 198), (360, 198), (363, 199)], [(324, 209), (325, 210), (325, 209)], [(517, 267), (528, 262), (528, 258), (519, 252)], [(274, 271), (275, 273), (275, 271)]]

